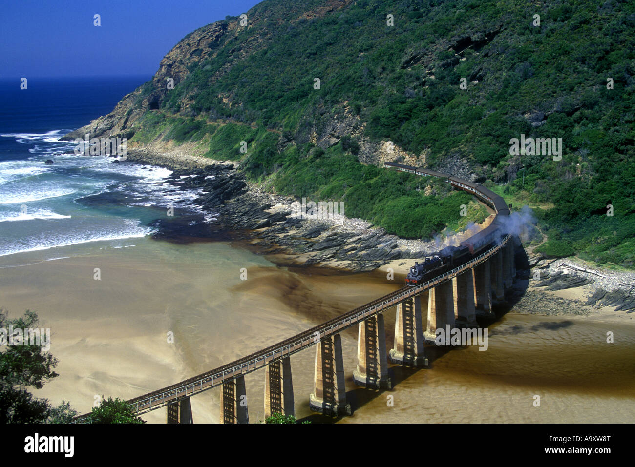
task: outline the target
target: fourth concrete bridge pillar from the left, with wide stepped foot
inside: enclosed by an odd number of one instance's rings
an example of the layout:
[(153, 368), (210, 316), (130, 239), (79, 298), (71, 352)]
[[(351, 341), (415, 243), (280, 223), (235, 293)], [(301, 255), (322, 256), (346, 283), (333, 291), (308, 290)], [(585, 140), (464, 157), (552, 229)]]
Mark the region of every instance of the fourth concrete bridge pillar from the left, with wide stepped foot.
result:
[(351, 405), (346, 403), (342, 338), (339, 334), (323, 338), (318, 343), (309, 408), (325, 415), (351, 415)]

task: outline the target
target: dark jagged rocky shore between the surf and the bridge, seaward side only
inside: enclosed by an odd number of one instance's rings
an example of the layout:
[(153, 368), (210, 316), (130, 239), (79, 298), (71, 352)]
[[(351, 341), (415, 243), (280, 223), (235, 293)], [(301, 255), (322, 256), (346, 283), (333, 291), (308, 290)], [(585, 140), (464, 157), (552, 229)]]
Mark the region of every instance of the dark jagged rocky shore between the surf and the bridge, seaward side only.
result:
[(213, 225), (194, 214), (157, 220), (157, 239), (246, 240), (262, 254), (291, 254), (299, 265), (348, 272), (369, 272), (387, 261), (422, 258), (438, 249), (437, 242), (399, 239), (361, 219), (301, 218), (291, 211), (291, 203), (297, 200), (263, 192), (248, 183), (234, 164), (142, 151), (130, 152), (128, 159), (173, 170), (166, 183), (200, 189), (203, 194), (193, 204), (215, 216)]

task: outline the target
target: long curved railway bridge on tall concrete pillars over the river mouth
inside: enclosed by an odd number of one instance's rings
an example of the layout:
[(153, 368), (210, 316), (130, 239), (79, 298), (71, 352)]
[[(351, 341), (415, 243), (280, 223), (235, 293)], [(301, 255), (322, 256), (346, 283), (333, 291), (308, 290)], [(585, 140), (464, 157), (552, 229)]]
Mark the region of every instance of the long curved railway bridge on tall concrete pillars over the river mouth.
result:
[[(358, 326), (356, 385), (371, 389), (392, 388), (388, 362), (410, 367), (428, 364), (424, 344), (435, 345), (437, 329), (475, 328), (476, 317), (493, 317), (492, 299), (503, 301), (516, 276), (514, 251), (517, 237), (505, 232), (501, 218), (509, 216), (502, 197), (484, 187), (446, 174), (387, 162), (386, 168), (420, 176), (437, 176), (453, 187), (476, 195), (496, 211), (490, 227), (471, 237), (486, 245), (466, 263), (414, 287), (402, 287), (359, 306), (319, 326), (300, 332), (267, 348), (239, 358), (193, 378), (128, 400), (137, 414), (165, 408), (167, 423), (192, 423), (190, 398), (222, 386), (221, 423), (248, 423), (244, 375), (264, 369), (264, 416), (294, 415), (290, 356), (316, 346), (312, 411), (327, 415), (351, 414), (344, 387), (344, 362), (340, 332)], [(490, 241), (491, 240), (491, 241)], [(476, 243), (474, 243), (476, 244)], [(383, 313), (396, 306), (394, 346), (387, 350)], [(77, 423), (90, 423), (90, 414)]]

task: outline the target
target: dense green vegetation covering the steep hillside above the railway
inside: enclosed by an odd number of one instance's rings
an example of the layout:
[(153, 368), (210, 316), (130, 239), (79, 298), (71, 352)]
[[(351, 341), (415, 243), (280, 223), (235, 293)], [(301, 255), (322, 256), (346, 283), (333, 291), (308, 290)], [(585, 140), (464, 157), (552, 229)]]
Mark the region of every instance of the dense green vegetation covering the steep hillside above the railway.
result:
[[(635, 3), (358, 0), (303, 17), (319, 4), (255, 6), (248, 16), (259, 20), (192, 65), (135, 138), (195, 140), (215, 159), (244, 157), (246, 172), (268, 187), (344, 199), (348, 215), (399, 235), (430, 236), (456, 222), (463, 195), (424, 197), (422, 182), (363, 166), (351, 136), (312, 145), (311, 135), (348, 109), (366, 123), (364, 137), (424, 153), (432, 168), (467, 160), (515, 199), (548, 206), (537, 216), (544, 232), (561, 236), (549, 237), (560, 253), (634, 265)], [(241, 49), (250, 53), (236, 58)], [(521, 134), (563, 138), (562, 159), (510, 155), (509, 140)]]

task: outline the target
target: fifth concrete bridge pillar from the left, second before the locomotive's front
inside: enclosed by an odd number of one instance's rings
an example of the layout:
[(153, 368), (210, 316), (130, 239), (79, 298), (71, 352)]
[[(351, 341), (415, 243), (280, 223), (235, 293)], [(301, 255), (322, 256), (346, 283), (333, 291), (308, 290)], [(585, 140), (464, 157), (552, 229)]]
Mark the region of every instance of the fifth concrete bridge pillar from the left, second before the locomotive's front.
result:
[(359, 323), (358, 365), (353, 371), (353, 381), (364, 388), (392, 388), (388, 376), (383, 315), (367, 318)]

